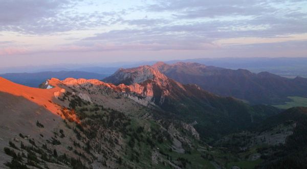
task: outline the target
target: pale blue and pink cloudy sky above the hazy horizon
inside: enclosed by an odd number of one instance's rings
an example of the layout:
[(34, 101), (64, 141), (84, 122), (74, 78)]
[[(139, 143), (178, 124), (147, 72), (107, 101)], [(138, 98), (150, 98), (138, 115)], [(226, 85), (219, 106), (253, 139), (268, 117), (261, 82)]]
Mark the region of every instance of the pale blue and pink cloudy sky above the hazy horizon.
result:
[(0, 0), (0, 67), (307, 57), (307, 1)]

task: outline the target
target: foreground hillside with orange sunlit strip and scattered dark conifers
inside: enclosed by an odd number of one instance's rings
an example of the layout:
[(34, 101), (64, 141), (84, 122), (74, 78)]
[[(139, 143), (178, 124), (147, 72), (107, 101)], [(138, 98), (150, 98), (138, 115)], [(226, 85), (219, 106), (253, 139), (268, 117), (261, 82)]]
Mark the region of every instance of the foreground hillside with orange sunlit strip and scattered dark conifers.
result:
[(158, 119), (120, 87), (52, 78), (41, 88), (0, 78), (0, 167), (213, 167), (192, 125)]

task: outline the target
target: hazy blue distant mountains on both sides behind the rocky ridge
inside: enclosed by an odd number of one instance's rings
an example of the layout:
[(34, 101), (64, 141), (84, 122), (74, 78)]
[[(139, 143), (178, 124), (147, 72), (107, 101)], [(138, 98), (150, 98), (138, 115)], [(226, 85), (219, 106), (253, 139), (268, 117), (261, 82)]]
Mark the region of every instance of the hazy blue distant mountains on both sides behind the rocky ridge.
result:
[[(95, 64), (60, 64), (24, 67), (0, 68), (0, 73), (37, 73), (46, 71), (85, 71), (101, 74), (113, 74), (118, 68), (131, 68), (142, 65), (153, 65), (157, 61), (113, 62)], [(270, 72), (284, 77), (307, 77), (306, 57), (222, 57), (222, 58), (192, 58), (185, 60), (169, 60), (166, 64), (176, 62), (198, 62), (204, 65), (228, 69), (247, 69), (253, 73)]]

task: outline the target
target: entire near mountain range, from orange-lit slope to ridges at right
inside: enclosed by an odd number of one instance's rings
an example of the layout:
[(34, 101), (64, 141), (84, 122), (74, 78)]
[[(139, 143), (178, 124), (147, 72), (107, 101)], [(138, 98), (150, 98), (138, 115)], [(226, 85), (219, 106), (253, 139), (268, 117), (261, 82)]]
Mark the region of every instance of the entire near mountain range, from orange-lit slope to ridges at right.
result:
[(251, 105), (181, 83), (228, 75), (270, 91), (266, 80), (284, 90), (305, 82), (259, 74), (158, 62), (103, 80), (48, 78), (39, 88), (0, 77), (0, 167), (304, 168), (306, 108)]

